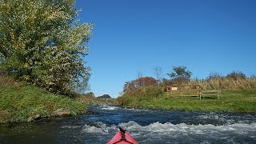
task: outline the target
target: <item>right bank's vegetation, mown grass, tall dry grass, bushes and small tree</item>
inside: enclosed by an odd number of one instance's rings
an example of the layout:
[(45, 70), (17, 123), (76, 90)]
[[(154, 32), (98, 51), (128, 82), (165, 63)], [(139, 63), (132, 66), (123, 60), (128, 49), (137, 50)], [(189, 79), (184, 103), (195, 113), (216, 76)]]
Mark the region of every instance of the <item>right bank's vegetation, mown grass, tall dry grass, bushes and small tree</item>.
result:
[[(226, 76), (210, 74), (206, 79), (190, 79), (191, 72), (185, 66), (174, 66), (170, 79), (161, 81), (142, 77), (126, 82), (122, 106), (142, 109), (194, 110), (218, 112), (256, 112), (256, 78), (248, 78), (242, 72), (231, 72)], [(222, 97), (166, 97), (166, 86), (199, 85), (202, 90), (222, 90)]]

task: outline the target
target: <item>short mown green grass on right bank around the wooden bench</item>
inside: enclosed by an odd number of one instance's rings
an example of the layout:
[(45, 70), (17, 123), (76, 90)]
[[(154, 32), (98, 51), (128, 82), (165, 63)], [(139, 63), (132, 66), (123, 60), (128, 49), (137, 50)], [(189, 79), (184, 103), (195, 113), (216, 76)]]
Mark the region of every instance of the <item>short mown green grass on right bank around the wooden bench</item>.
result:
[(126, 107), (161, 110), (256, 113), (256, 90), (222, 90), (222, 98), (122, 96), (119, 104)]

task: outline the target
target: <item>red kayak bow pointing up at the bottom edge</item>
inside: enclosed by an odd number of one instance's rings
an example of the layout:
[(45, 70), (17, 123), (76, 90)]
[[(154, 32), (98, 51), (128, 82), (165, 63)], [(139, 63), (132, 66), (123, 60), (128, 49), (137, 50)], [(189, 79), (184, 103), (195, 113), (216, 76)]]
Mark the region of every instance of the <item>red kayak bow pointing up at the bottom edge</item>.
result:
[(118, 127), (118, 129), (118, 133), (115, 134), (114, 137), (106, 144), (138, 144), (138, 142), (136, 142), (134, 138), (126, 132), (126, 130), (123, 130), (121, 127)]

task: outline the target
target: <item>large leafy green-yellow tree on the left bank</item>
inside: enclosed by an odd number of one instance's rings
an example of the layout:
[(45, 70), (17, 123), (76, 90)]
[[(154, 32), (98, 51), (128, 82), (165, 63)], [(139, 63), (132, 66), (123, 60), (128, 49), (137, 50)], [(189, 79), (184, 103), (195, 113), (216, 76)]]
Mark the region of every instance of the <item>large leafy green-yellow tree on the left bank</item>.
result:
[(0, 0), (0, 69), (60, 94), (88, 80), (92, 25), (79, 24), (75, 0)]

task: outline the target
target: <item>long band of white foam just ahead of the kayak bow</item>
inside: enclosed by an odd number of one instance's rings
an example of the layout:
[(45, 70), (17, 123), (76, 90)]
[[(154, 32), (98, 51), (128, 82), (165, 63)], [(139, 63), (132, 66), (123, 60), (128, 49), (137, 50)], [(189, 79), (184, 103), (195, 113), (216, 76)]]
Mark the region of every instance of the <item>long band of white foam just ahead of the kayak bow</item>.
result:
[[(255, 138), (256, 134), (256, 123), (246, 124), (246, 123), (235, 123), (226, 126), (214, 126), (211, 124), (207, 125), (187, 125), (186, 123), (172, 124), (170, 122), (160, 123), (154, 122), (148, 126), (141, 126), (137, 122), (130, 121), (125, 123), (120, 123), (118, 126), (125, 128), (130, 134), (134, 136), (142, 135), (158, 135), (166, 137), (182, 137), (188, 135), (207, 135), (212, 138), (218, 138), (221, 136), (225, 138), (225, 135), (248, 135), (250, 138)], [(85, 125), (82, 127), (82, 132), (86, 133), (100, 133), (109, 134), (110, 131), (116, 131), (117, 126), (106, 126), (102, 122), (98, 122), (97, 126)]]

